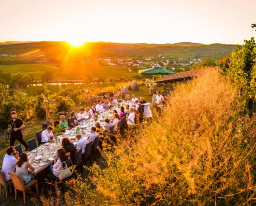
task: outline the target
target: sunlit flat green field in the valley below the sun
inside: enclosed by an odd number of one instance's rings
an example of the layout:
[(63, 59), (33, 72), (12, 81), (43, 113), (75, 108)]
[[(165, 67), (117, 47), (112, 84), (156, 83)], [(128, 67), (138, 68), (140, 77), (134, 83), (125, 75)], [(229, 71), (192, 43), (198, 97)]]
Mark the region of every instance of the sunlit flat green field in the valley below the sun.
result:
[(52, 80), (82, 80), (86, 74), (95, 78), (131, 78), (137, 75), (136, 71), (129, 72), (128, 68), (100, 64), (99, 62), (69, 63), (69, 64), (15, 64), (0, 65), (0, 70), (11, 74), (33, 74), (35, 80), (41, 80), (41, 75), (50, 71), (53, 73)]

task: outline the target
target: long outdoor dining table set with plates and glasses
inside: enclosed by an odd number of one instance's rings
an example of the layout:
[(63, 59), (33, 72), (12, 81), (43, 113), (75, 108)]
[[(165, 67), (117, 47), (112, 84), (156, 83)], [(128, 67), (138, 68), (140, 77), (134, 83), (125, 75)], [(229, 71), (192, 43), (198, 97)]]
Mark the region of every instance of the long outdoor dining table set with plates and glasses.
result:
[[(97, 122), (101, 127), (106, 126), (104, 119), (112, 117), (112, 110), (119, 111), (119, 107), (114, 107), (107, 111), (104, 111), (98, 115)], [(86, 117), (85, 117), (86, 118)], [(77, 146), (78, 141), (76, 139), (76, 131), (79, 128), (81, 135), (88, 139), (91, 135), (91, 127), (95, 126), (95, 118), (87, 118), (77, 127), (70, 130), (66, 130), (62, 135), (58, 135), (54, 138), (54, 142), (48, 142), (40, 145), (39, 147), (28, 152), (29, 162), (35, 168), (34, 171), (28, 170), (29, 173), (37, 175), (40, 171), (46, 169), (50, 164), (54, 162), (54, 156), (57, 156), (57, 149), (62, 147), (62, 139), (67, 137), (71, 142)]]

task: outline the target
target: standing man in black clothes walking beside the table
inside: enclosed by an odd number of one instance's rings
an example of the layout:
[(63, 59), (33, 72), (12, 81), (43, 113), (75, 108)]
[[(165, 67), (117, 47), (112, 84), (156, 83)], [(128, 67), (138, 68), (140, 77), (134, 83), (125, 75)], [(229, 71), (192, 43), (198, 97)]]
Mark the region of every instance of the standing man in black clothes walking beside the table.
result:
[(27, 143), (24, 142), (21, 129), (25, 127), (24, 123), (20, 118), (17, 117), (17, 112), (12, 111), (11, 112), (11, 136), (10, 136), (10, 147), (14, 145), (14, 142), (18, 140), (21, 144), (23, 144), (26, 147), (26, 150), (28, 150)]

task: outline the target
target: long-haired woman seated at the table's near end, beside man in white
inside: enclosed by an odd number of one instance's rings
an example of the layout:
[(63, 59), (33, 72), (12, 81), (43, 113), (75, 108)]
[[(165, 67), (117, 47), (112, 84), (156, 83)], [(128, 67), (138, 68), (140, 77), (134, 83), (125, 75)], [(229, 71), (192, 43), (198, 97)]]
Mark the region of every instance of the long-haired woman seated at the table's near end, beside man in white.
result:
[(34, 175), (28, 173), (28, 168), (32, 171), (35, 170), (35, 168), (29, 163), (27, 153), (23, 152), (16, 164), (16, 173), (21, 176), (24, 184), (29, 183), (34, 178)]

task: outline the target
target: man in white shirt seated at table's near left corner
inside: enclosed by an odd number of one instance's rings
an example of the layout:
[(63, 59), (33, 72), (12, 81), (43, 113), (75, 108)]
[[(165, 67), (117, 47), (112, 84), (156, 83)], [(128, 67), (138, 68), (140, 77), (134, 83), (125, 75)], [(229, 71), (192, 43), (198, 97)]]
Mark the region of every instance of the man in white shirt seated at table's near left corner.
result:
[[(16, 163), (19, 160), (19, 152), (15, 150), (14, 147), (8, 147), (6, 149), (6, 155), (4, 157), (3, 165), (2, 165), (2, 173), (6, 181), (9, 181), (11, 177), (8, 174), (8, 171), (12, 171), (14, 173), (16, 168)], [(0, 184), (0, 186), (2, 186)]]

